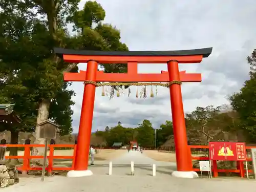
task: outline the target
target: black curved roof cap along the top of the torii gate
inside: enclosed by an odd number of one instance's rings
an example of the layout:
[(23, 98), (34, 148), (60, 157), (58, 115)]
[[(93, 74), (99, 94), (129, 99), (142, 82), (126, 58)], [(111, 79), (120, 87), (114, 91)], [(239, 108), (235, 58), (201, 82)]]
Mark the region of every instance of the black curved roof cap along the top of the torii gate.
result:
[(188, 56), (188, 55), (203, 55), (208, 57), (211, 54), (212, 48), (190, 49), (179, 51), (92, 51), (92, 50), (73, 50), (54, 48), (54, 52), (61, 56), (65, 55), (100, 55), (100, 56)]

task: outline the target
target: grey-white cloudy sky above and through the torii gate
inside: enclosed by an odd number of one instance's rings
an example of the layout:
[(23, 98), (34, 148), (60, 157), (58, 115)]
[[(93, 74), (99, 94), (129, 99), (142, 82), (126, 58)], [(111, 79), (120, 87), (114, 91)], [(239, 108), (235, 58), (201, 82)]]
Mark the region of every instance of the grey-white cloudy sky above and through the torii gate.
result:
[[(86, 1), (81, 1), (82, 9)], [(131, 51), (184, 50), (213, 47), (212, 54), (198, 64), (180, 64), (180, 70), (202, 73), (201, 83), (183, 83), (184, 111), (197, 106), (228, 103), (227, 96), (239, 91), (248, 79), (246, 56), (256, 47), (255, 0), (98, 0), (106, 12), (104, 22), (121, 31), (121, 41)], [(86, 70), (86, 63), (79, 69)], [(160, 73), (165, 64), (140, 64), (139, 73)], [(73, 82), (73, 130), (78, 132), (83, 84)], [(106, 125), (135, 127), (148, 119), (157, 129), (172, 120), (169, 92), (158, 88), (158, 97), (136, 98), (132, 95), (109, 99), (97, 88), (93, 131)]]

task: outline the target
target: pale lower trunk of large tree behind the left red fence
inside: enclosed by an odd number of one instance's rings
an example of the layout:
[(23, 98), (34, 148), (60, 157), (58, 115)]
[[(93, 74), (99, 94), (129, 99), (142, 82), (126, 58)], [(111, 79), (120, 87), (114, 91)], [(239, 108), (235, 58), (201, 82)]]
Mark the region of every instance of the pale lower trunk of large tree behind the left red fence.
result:
[[(39, 104), (36, 124), (47, 121), (49, 116), (50, 100), (42, 99)], [(35, 144), (45, 144), (45, 139), (40, 139), (40, 126), (35, 127)], [(44, 156), (44, 147), (33, 147), (31, 155)], [(32, 159), (33, 163), (42, 166), (43, 159)]]

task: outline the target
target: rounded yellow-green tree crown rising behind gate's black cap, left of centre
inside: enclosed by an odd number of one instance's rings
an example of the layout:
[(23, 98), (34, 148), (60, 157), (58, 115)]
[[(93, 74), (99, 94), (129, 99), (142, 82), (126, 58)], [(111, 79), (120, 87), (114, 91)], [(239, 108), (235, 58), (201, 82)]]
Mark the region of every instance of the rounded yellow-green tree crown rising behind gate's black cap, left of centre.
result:
[[(120, 31), (111, 24), (102, 24), (105, 11), (97, 2), (88, 1), (83, 10), (76, 12), (68, 20), (73, 22), (74, 30), (78, 34), (79, 41), (76, 49), (99, 50), (99, 51), (128, 51), (125, 44), (120, 41)], [(126, 73), (127, 65), (100, 64), (106, 73)]]

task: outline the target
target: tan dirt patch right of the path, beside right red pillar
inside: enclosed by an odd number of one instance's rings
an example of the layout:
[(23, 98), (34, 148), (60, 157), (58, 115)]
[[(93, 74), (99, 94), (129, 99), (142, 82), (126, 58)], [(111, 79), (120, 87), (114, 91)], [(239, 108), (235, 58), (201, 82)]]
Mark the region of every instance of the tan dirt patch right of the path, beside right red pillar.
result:
[(144, 150), (143, 154), (156, 161), (176, 162), (175, 153), (164, 153), (153, 150)]

